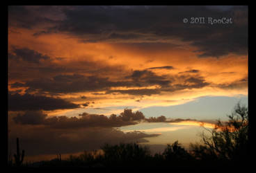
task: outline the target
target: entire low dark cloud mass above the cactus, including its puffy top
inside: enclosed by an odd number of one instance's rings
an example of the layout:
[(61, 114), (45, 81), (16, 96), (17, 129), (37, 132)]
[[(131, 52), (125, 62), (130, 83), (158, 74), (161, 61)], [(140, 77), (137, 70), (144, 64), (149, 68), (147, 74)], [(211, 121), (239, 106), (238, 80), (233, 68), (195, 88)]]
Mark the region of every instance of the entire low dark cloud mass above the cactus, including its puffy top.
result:
[(104, 143), (145, 143), (148, 141), (145, 138), (159, 134), (145, 134), (140, 131), (125, 133), (113, 128), (134, 125), (144, 119), (143, 113), (132, 112), (131, 109), (125, 109), (120, 116), (112, 114), (109, 118), (89, 113), (82, 113), (79, 118), (49, 117), (42, 111), (14, 113), (8, 120), (9, 148), (15, 149), (13, 141), (17, 136), (27, 156), (100, 149)]

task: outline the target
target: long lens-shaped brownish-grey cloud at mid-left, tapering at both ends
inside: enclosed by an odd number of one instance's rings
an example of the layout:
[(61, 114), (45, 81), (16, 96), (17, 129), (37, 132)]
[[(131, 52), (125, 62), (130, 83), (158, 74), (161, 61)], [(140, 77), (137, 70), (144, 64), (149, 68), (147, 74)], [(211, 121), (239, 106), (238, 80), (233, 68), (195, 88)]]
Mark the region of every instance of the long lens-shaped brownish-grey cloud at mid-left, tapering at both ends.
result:
[(102, 91), (111, 86), (132, 86), (131, 82), (111, 81), (109, 78), (85, 75), (56, 75), (53, 78), (41, 78), (22, 83), (11, 84), (12, 87), (29, 86), (32, 89), (51, 93), (73, 93), (79, 91)]

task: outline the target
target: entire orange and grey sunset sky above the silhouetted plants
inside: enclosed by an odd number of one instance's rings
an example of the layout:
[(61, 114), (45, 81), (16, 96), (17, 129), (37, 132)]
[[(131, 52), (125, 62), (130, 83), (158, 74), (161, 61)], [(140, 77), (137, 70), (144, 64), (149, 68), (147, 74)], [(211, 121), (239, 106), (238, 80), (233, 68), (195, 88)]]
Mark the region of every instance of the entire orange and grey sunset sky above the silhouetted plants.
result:
[(186, 145), (237, 102), (248, 105), (247, 6), (8, 7), (11, 154), (17, 137), (26, 156)]

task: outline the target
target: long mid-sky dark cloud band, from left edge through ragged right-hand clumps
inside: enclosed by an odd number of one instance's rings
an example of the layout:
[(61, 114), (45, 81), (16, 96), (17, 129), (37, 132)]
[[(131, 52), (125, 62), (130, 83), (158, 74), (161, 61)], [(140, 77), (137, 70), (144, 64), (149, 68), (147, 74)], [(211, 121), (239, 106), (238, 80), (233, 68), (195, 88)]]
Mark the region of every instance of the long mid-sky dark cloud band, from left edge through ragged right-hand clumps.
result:
[[(160, 68), (160, 67), (157, 67)], [(56, 75), (53, 78), (40, 78), (29, 80), (24, 83), (15, 82), (11, 87), (17, 88), (29, 86), (26, 91), (38, 91), (41, 93), (75, 93), (80, 91), (104, 91), (104, 93), (93, 93), (94, 95), (103, 95), (109, 93), (127, 93), (129, 95), (152, 95), (159, 94), (161, 91), (173, 92), (182, 89), (202, 88), (209, 85), (205, 79), (197, 74), (197, 70), (189, 71), (192, 74), (186, 75), (157, 75), (150, 70), (133, 71), (131, 75), (124, 77), (124, 80), (113, 81), (109, 78), (101, 78), (95, 75), (85, 76), (79, 74)], [(179, 80), (179, 84), (173, 84)], [(115, 86), (126, 87), (147, 87), (159, 85), (157, 89), (111, 89)]]

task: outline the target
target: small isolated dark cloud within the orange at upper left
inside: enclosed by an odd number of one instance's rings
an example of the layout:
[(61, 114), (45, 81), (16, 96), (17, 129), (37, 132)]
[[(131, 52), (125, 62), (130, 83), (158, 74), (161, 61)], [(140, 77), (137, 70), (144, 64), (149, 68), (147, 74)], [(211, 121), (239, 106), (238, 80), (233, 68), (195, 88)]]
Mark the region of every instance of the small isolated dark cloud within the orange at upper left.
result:
[(49, 60), (50, 57), (47, 55), (42, 55), (37, 51), (33, 51), (29, 48), (14, 48), (13, 53), (9, 53), (8, 57), (13, 60), (22, 59), (27, 62), (40, 63), (40, 60)]

